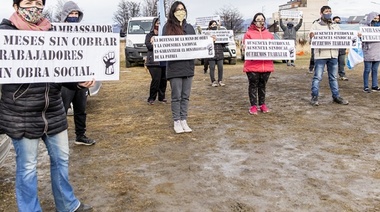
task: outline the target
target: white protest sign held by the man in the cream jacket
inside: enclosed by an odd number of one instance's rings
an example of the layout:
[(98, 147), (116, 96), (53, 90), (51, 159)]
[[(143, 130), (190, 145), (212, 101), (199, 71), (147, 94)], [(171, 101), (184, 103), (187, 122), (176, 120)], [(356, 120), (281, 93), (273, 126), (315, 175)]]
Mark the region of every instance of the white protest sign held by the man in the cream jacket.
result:
[(318, 30), (313, 31), (311, 48), (346, 49), (358, 47), (358, 32), (354, 30)]

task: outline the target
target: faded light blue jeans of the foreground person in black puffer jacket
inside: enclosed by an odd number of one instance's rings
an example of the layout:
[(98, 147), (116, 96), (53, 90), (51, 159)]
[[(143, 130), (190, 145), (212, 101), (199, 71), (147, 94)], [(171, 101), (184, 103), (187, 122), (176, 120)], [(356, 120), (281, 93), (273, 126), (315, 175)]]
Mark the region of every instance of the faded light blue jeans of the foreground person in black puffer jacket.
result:
[[(79, 200), (69, 183), (69, 144), (67, 130), (42, 137), (50, 156), (50, 178), (56, 210), (72, 212)], [(12, 139), (16, 152), (16, 198), (22, 211), (42, 211), (38, 200), (37, 155), (39, 139)]]

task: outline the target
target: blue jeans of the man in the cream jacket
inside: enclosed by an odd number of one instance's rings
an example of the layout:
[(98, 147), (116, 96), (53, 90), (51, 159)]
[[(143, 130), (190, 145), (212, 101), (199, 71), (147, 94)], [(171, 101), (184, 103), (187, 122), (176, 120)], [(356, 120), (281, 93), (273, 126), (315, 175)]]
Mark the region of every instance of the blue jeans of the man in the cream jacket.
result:
[(339, 97), (339, 86), (337, 81), (338, 60), (337, 58), (315, 60), (314, 77), (311, 83), (311, 96), (319, 95), (319, 83), (322, 81), (323, 69), (327, 65), (329, 85), (333, 98)]

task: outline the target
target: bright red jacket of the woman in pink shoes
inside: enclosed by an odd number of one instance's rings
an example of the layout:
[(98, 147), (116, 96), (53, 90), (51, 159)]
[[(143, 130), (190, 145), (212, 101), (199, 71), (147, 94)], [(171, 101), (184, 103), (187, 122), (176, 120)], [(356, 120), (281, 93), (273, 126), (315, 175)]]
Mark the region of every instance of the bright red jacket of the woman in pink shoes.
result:
[[(243, 38), (243, 43), (245, 39), (271, 39), (273, 40), (273, 35), (264, 27), (261, 30), (252, 24), (248, 31), (245, 33)], [(245, 60), (244, 61), (244, 72), (273, 72), (274, 65), (273, 60)]]

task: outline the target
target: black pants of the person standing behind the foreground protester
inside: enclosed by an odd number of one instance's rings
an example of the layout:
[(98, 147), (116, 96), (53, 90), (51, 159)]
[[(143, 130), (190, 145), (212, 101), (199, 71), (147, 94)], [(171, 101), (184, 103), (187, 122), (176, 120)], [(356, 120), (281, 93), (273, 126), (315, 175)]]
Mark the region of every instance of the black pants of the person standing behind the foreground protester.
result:
[(67, 110), (70, 108), (70, 103), (73, 103), (76, 136), (79, 137), (84, 135), (86, 133), (86, 106), (88, 89), (84, 88), (81, 90), (70, 90), (62, 87), (61, 92), (66, 114)]

